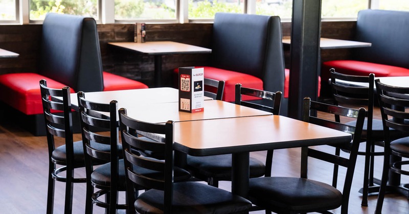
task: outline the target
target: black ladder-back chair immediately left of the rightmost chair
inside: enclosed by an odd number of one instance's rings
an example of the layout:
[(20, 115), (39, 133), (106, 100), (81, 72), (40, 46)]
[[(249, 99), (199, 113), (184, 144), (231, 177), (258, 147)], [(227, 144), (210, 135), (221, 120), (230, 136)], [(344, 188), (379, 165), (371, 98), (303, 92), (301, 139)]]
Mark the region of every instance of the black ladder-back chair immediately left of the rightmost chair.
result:
[[(366, 141), (365, 151), (359, 151), (358, 155), (365, 155), (365, 169), (363, 175), (363, 188), (359, 190), (362, 193), (362, 206), (368, 206), (368, 193), (378, 192), (378, 186), (374, 184), (380, 183), (374, 178), (374, 156), (383, 155), (383, 152), (375, 152), (375, 146), (383, 146), (383, 125), (381, 119), (373, 119), (374, 114), (374, 74), (369, 76), (355, 76), (335, 72), (335, 69), (330, 69), (331, 88), (335, 105), (342, 106), (361, 106), (367, 109), (367, 118), (363, 123), (362, 141)], [(349, 83), (342, 82), (348, 81)], [(359, 86), (368, 84), (368, 86)], [(336, 118), (339, 122), (339, 117)], [(347, 122), (353, 125), (355, 121)], [(393, 139), (403, 137), (400, 131), (391, 130)], [(339, 152), (337, 150), (336, 152)], [(337, 166), (334, 166), (333, 185), (337, 180)]]

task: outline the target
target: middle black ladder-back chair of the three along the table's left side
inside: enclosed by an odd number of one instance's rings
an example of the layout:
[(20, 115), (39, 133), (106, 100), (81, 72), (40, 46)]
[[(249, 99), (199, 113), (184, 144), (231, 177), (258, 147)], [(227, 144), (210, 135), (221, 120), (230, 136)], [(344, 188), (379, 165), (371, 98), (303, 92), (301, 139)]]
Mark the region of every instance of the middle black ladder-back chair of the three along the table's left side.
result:
[[(87, 178), (85, 213), (93, 212), (93, 203), (106, 208), (107, 213), (127, 209), (126, 204), (118, 204), (118, 192), (126, 191), (123, 159), (120, 159), (122, 146), (118, 142), (118, 103), (91, 102), (80, 91), (78, 109)], [(107, 147), (108, 151), (101, 147)], [(107, 163), (96, 167), (96, 160)], [(100, 190), (95, 192), (94, 188)], [(101, 196), (105, 196), (105, 202), (99, 199)]]

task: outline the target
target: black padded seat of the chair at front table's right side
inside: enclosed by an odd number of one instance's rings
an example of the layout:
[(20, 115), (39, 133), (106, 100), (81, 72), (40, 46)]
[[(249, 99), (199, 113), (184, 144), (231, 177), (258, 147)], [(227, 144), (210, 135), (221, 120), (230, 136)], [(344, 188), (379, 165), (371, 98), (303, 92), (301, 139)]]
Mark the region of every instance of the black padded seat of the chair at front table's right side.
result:
[(331, 185), (296, 177), (252, 178), (248, 196), (256, 205), (293, 211), (330, 210), (342, 204), (342, 193)]

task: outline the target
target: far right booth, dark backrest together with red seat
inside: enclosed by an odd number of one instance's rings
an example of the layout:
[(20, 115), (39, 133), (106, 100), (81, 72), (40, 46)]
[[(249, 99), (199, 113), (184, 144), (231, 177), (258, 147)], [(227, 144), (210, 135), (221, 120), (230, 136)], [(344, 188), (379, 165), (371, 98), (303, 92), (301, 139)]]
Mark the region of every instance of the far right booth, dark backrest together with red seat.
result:
[(324, 62), (321, 69), (324, 84), (330, 78), (330, 68), (349, 75), (409, 76), (408, 25), (409, 12), (406, 11), (359, 11), (355, 40), (372, 45), (354, 48), (351, 59)]

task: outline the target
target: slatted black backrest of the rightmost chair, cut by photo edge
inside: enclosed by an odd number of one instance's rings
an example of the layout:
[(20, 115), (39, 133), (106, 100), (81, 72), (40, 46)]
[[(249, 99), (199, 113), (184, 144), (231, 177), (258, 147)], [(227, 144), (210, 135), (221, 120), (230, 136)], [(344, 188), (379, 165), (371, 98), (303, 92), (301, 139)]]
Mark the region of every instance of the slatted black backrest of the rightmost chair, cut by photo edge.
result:
[[(383, 121), (385, 141), (390, 141), (389, 129), (409, 132), (409, 87), (395, 87), (385, 85), (375, 79), (376, 92)], [(385, 142), (386, 143), (386, 142)]]

